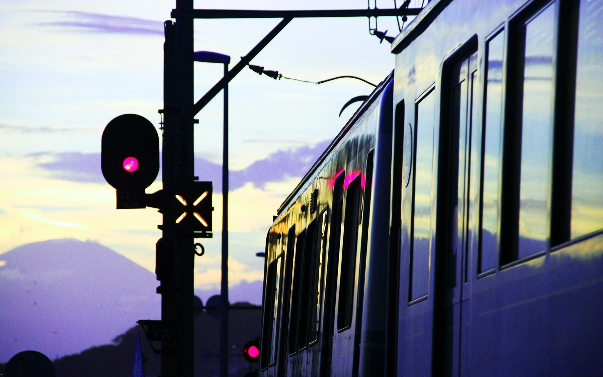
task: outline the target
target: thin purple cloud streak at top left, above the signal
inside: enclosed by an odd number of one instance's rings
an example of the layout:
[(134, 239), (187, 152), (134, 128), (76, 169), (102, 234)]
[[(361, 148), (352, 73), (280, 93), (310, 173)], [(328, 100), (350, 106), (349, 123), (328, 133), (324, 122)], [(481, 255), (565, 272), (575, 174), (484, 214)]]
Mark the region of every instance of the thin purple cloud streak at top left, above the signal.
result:
[(137, 17), (111, 16), (110, 14), (83, 11), (42, 11), (61, 16), (57, 21), (39, 22), (36, 26), (67, 28), (84, 33), (125, 33), (163, 35), (163, 22)]

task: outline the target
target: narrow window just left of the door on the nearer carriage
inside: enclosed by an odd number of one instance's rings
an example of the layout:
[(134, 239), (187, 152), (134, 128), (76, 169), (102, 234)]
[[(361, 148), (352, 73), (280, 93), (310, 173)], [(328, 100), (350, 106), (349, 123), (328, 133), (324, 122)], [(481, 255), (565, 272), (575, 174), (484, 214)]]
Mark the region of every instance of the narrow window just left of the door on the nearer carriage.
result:
[(411, 290), (409, 300), (426, 296), (429, 288), (431, 197), (434, 165), (435, 95), (416, 104), (414, 195), (411, 224)]

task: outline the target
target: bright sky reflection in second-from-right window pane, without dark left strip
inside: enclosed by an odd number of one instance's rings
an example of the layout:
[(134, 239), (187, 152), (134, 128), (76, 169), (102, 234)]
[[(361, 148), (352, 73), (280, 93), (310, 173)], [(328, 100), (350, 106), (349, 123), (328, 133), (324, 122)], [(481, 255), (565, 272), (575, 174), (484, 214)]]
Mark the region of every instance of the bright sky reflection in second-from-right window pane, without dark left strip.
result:
[(554, 30), (553, 4), (525, 24), (519, 259), (541, 252), (548, 246)]

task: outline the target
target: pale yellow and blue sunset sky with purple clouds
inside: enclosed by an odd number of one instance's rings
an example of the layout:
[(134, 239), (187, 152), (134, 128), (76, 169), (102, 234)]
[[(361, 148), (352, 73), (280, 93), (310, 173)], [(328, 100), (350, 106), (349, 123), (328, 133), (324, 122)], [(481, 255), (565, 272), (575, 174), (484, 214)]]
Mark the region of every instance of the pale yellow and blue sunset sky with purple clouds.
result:
[[(420, 0), (411, 2), (418, 6)], [(103, 128), (118, 115), (137, 113), (159, 127), (163, 21), (174, 7), (173, 0), (0, 2), (0, 259), (29, 242), (75, 238), (154, 271), (160, 214), (117, 211), (99, 153)], [(195, 8), (366, 7), (364, 0), (195, 2)], [(198, 20), (194, 48), (230, 55), (232, 68), (277, 22)], [(395, 17), (378, 22), (380, 31), (397, 35)], [(301, 80), (356, 75), (379, 83), (394, 55), (389, 43), (368, 33), (367, 18), (294, 19), (251, 63)], [(195, 63), (195, 97), (222, 74), (222, 65)], [(339, 117), (341, 107), (372, 89), (349, 79), (273, 80), (247, 68), (230, 83), (230, 285), (262, 279), (264, 261), (256, 253), (264, 251), (276, 209), (358, 104)], [(216, 288), (220, 279), (221, 99), (196, 117), (195, 175), (215, 182), (214, 238), (201, 241), (206, 253), (195, 262), (199, 289)], [(158, 179), (147, 192), (161, 187)]]

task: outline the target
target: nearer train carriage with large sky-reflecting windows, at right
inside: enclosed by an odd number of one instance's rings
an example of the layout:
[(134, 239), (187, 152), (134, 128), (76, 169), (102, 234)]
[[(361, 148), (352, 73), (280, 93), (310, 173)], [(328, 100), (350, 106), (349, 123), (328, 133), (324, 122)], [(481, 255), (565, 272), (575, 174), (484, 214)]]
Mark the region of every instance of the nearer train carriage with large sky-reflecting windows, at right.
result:
[(388, 375), (601, 375), (602, 15), (433, 0), (394, 41)]

